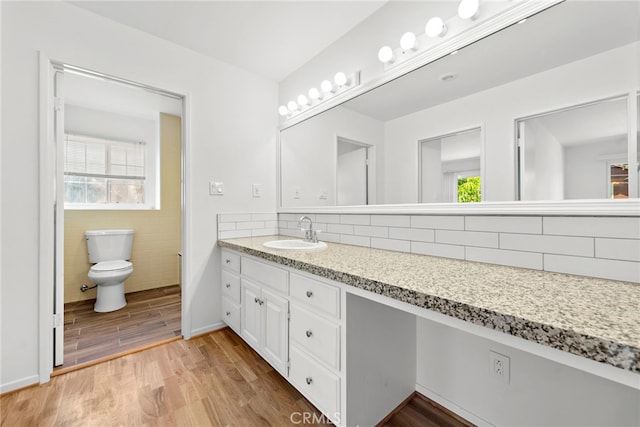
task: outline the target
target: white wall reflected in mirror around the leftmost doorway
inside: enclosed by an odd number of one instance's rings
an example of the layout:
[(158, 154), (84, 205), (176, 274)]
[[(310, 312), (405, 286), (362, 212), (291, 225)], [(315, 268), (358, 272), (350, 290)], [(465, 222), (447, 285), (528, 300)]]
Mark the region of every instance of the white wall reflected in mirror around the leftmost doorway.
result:
[[(336, 136), (382, 147), (382, 124), (370, 117), (336, 107), (288, 128), (281, 134), (282, 206), (336, 205)], [(376, 155), (376, 188), (384, 180), (383, 156)], [(380, 183), (380, 184), (378, 184)], [(299, 199), (294, 199), (299, 189)], [(321, 190), (327, 191), (321, 200)], [(377, 199), (381, 194), (377, 193)]]

